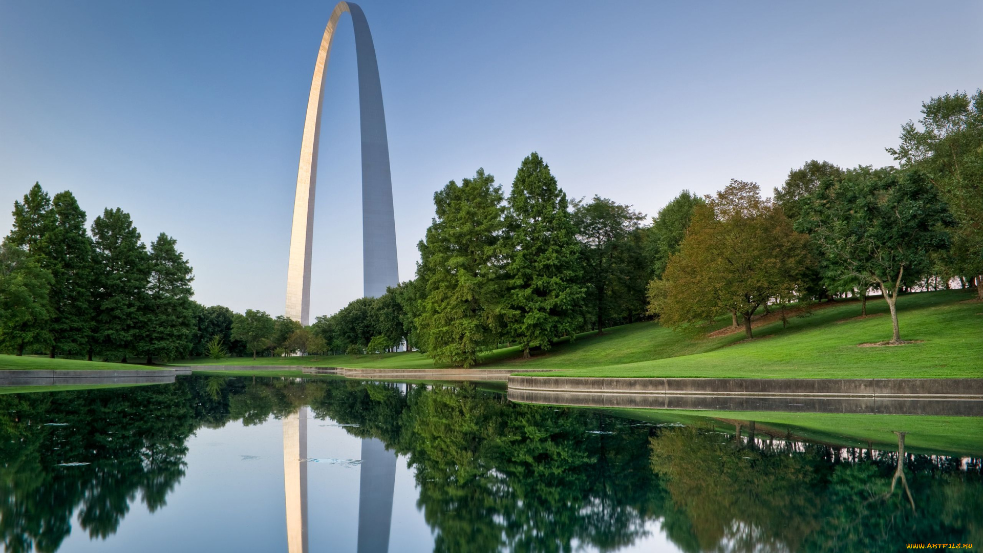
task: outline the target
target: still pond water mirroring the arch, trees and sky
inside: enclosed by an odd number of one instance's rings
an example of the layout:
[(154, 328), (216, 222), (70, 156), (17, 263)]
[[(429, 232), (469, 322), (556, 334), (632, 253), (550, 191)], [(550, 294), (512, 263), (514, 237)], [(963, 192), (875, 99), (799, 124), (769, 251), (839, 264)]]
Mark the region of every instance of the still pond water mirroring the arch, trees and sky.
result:
[(473, 385), (195, 376), (3, 395), (0, 531), (16, 552), (983, 547), (977, 442), (912, 434), (898, 473), (897, 444), (805, 434)]

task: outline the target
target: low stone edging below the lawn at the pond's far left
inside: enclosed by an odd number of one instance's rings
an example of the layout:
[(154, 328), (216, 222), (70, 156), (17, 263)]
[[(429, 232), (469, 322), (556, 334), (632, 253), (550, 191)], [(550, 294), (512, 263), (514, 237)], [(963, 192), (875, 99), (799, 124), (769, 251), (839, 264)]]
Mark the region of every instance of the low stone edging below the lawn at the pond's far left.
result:
[(168, 384), (184, 369), (0, 370), (3, 386), (68, 386), (95, 384)]

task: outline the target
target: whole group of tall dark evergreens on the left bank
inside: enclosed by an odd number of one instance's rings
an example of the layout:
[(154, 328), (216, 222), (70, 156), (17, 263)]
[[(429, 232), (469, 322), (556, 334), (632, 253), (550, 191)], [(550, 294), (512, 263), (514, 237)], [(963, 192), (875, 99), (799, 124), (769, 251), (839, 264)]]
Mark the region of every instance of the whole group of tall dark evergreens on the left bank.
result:
[(160, 233), (147, 247), (118, 208), (86, 223), (69, 191), (52, 198), (34, 184), (14, 203), (0, 244), (0, 348), (89, 360), (187, 355), (194, 276), (174, 238)]

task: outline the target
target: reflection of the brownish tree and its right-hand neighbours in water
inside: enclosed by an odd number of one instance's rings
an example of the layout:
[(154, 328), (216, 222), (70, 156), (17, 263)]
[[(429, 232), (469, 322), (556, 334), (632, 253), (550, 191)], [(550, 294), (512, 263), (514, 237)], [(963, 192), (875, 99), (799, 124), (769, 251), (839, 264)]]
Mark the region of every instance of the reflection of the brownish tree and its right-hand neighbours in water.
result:
[(783, 446), (749, 448), (695, 428), (653, 439), (653, 468), (686, 520), (667, 525), (669, 536), (688, 542), (690, 551), (845, 551), (979, 541), (978, 472), (928, 456), (907, 457), (907, 470), (917, 475), (909, 483), (920, 506), (915, 514), (903, 494), (890, 493), (896, 455), (875, 459), (867, 451), (844, 461), (824, 446), (807, 445), (803, 453)]

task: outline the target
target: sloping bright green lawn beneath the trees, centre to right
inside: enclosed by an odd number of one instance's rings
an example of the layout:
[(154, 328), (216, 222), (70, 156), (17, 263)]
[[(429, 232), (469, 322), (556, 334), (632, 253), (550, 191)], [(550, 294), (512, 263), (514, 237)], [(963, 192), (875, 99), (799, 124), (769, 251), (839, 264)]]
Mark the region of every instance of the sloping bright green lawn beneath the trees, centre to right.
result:
[[(758, 317), (754, 336), (730, 332), (721, 319), (709, 337), (696, 338), (656, 322), (585, 333), (572, 343), (522, 359), (518, 347), (483, 355), (482, 367), (559, 369), (565, 376), (745, 377), (745, 378), (979, 378), (983, 377), (983, 304), (973, 294), (945, 290), (898, 298), (901, 338), (918, 343), (860, 347), (891, 338), (891, 319), (883, 299), (867, 302), (860, 319), (858, 301), (823, 303), (808, 312)], [(320, 355), (307, 357), (189, 359), (180, 364), (307, 365), (350, 368), (432, 368), (420, 353)], [(437, 365), (439, 366), (439, 365)]]

